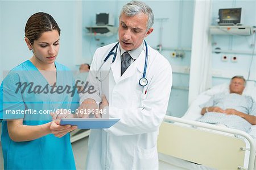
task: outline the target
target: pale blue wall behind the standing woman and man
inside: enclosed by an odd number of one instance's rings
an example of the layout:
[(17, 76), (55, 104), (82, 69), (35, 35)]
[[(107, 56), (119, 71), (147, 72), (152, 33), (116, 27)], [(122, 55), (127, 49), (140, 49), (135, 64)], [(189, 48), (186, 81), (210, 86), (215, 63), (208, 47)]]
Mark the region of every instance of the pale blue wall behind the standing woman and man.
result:
[[(122, 6), (129, 1), (0, 1), (0, 78), (2, 72), (9, 71), (16, 65), (30, 59), (32, 53), (24, 42), (24, 27), (32, 14), (43, 11), (55, 18), (61, 28), (60, 52), (57, 61), (71, 69), (77, 64), (90, 63), (96, 48), (101, 43), (109, 44), (117, 41), (118, 36), (94, 37), (86, 35), (86, 26), (95, 24), (96, 13), (112, 13), (115, 26)], [(156, 47), (160, 42), (160, 31), (163, 32), (163, 49), (191, 48), (193, 1), (145, 1), (155, 14), (154, 32), (146, 39), (148, 44)], [(164, 21), (162, 30), (159, 18)], [(100, 39), (100, 40), (96, 40)], [(191, 52), (185, 51), (184, 59), (171, 57), (172, 50), (164, 50), (162, 54), (172, 65), (189, 67)], [(188, 74), (174, 73), (169, 113), (181, 116), (187, 110)], [(183, 87), (183, 89), (182, 89)]]

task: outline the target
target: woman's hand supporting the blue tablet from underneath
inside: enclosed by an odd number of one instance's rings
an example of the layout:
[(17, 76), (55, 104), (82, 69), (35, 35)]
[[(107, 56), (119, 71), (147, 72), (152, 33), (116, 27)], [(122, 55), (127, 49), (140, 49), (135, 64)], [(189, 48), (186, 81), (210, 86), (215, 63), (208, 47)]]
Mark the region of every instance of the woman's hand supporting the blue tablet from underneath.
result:
[(60, 120), (55, 120), (51, 122), (51, 126), (49, 127), (51, 133), (58, 138), (61, 138), (68, 132), (71, 132), (77, 128), (77, 126), (71, 125), (60, 125)]

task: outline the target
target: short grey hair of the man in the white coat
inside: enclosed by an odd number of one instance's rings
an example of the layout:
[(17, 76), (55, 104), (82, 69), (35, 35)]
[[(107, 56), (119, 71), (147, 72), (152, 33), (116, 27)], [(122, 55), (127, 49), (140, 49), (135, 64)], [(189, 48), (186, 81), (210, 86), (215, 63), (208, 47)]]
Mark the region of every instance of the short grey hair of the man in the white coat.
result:
[(123, 14), (127, 16), (134, 16), (139, 13), (144, 13), (148, 16), (147, 19), (147, 30), (151, 28), (154, 24), (154, 14), (152, 12), (152, 9), (146, 5), (146, 3), (141, 1), (131, 1), (127, 3), (125, 6), (123, 6), (120, 16)]

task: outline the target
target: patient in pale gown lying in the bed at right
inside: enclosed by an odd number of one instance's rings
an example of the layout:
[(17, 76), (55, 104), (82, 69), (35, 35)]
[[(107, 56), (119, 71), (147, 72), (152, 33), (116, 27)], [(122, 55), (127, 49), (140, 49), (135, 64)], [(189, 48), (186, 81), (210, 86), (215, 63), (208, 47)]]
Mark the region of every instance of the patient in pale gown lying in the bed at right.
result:
[(197, 121), (225, 125), (248, 132), (251, 125), (256, 125), (256, 103), (250, 96), (243, 96), (246, 81), (242, 76), (235, 76), (230, 81), (229, 94), (216, 94), (203, 105)]

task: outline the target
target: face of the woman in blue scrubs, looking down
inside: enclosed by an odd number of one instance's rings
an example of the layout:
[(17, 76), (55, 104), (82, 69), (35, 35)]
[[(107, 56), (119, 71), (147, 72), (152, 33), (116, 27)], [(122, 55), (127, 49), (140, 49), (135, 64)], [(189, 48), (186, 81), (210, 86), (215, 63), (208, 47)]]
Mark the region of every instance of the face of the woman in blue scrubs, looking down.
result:
[(42, 64), (54, 63), (59, 52), (60, 35), (56, 30), (46, 31), (34, 41), (32, 49), (36, 60)]

